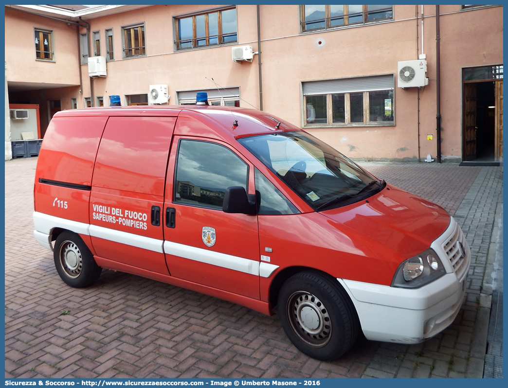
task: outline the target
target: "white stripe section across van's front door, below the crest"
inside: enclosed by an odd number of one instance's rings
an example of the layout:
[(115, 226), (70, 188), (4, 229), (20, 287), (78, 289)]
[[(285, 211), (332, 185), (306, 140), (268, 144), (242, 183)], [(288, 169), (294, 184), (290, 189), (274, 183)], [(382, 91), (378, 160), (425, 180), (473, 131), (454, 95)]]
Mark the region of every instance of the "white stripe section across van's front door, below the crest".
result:
[(196, 262), (207, 263), (251, 275), (259, 275), (259, 262), (249, 260), (248, 258), (232, 256), (171, 241), (164, 241), (164, 251), (168, 254), (188, 258)]

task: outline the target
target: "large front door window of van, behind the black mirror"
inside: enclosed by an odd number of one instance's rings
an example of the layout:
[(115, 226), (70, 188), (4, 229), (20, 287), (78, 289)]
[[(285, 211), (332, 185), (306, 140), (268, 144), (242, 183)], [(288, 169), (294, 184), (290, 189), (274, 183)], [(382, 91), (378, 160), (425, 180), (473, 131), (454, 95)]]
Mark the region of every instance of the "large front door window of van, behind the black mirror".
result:
[(175, 202), (222, 210), (230, 186), (247, 190), (248, 166), (229, 148), (198, 140), (180, 140)]

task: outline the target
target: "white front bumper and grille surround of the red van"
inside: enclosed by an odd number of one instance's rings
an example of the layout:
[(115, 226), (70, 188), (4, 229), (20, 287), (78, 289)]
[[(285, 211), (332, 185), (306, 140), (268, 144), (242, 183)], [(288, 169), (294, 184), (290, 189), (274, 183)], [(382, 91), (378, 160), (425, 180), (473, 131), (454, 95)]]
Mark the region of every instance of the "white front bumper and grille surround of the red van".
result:
[[(466, 255), (460, 269), (455, 265), (456, 273), (449, 258), (442, 254), (444, 250), (441, 246), (447, 246), (457, 236), (465, 246)], [(439, 254), (447, 274), (423, 287), (397, 288), (337, 279), (353, 301), (367, 339), (418, 343), (452, 324), (462, 306), (466, 290), (469, 247), (453, 218), (446, 232), (434, 241), (432, 247)]]

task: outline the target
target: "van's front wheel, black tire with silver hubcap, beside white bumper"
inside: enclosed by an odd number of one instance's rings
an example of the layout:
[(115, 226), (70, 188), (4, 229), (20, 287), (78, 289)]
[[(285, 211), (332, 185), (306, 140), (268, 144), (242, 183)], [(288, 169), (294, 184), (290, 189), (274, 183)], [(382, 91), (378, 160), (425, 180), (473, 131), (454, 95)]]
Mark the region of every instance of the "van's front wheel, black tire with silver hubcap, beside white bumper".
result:
[(355, 306), (337, 280), (325, 274), (290, 277), (280, 288), (277, 310), (291, 342), (314, 359), (335, 360), (358, 338)]

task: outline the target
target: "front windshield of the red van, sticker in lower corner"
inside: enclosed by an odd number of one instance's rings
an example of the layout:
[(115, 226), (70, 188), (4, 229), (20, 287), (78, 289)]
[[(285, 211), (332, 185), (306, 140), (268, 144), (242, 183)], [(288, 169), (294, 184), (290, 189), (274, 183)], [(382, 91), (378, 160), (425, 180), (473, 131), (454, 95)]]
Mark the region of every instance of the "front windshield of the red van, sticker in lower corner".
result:
[(386, 185), (305, 132), (252, 136), (239, 142), (314, 210), (361, 201)]

